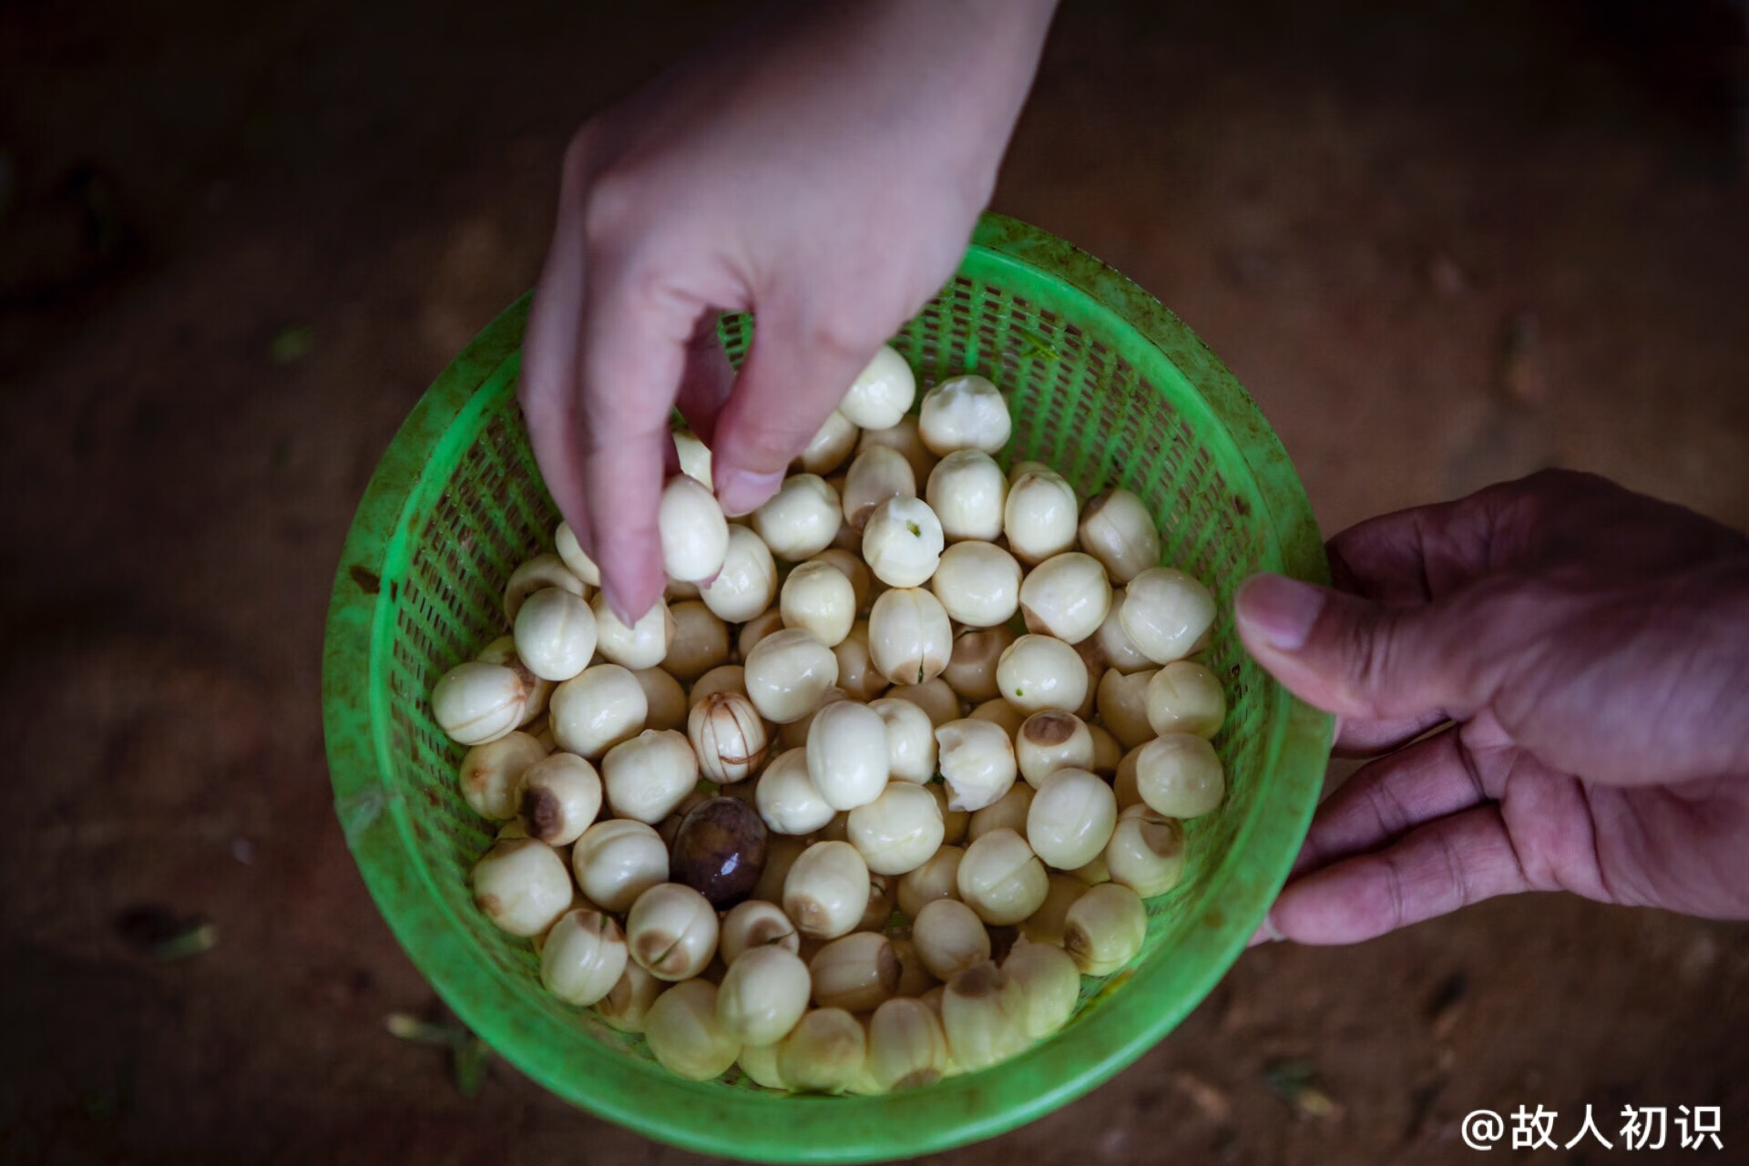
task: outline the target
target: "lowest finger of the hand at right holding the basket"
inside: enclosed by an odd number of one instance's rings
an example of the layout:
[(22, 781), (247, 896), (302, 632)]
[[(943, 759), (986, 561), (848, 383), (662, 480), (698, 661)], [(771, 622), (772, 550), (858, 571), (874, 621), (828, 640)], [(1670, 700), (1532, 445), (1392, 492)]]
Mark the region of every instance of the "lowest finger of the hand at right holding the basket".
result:
[(1523, 890), (1530, 886), (1499, 806), (1476, 806), (1289, 883), (1259, 937), (1357, 944)]

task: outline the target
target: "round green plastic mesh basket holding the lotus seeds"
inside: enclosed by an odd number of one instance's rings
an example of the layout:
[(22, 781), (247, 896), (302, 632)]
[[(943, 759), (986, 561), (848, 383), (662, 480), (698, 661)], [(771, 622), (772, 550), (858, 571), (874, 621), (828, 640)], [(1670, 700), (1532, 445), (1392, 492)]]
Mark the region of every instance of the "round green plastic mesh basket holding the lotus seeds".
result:
[[(1188, 829), (1182, 885), (1149, 902), (1142, 954), (1084, 979), (1060, 1033), (978, 1073), (881, 1098), (792, 1098), (731, 1070), (687, 1082), (642, 1038), (560, 1003), (526, 940), (474, 907), (491, 827), (456, 790), (462, 748), (432, 724), (442, 671), (504, 635), (500, 596), (549, 547), (558, 514), (528, 449), (516, 374), (528, 301), (425, 393), (383, 455), (341, 554), (324, 659), (336, 811), (395, 937), (497, 1052), (556, 1094), (693, 1150), (773, 1163), (906, 1157), (986, 1138), (1098, 1086), (1170, 1031), (1244, 951), (1317, 801), (1331, 718), (1245, 656), (1231, 601), (1252, 572), (1326, 580), (1300, 479), (1231, 372), (1160, 302), (1091, 255), (986, 215), (958, 274), (894, 339), (930, 385), (978, 371), (1011, 395), (1007, 458), (1056, 467), (1083, 495), (1125, 486), (1165, 559), (1207, 580), (1209, 664), (1231, 713), (1216, 738), (1230, 792)], [(750, 322), (728, 318), (740, 357)]]

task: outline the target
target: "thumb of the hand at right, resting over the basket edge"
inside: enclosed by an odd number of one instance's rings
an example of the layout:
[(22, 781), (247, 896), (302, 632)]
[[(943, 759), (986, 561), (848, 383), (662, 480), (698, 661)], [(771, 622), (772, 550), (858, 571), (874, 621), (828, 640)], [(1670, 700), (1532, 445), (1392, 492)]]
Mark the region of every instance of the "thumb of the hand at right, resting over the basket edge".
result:
[(1385, 607), (1282, 575), (1238, 591), (1238, 635), (1300, 699), (1361, 720), (1443, 713), (1488, 703), (1502, 668), (1476, 603), (1464, 594)]

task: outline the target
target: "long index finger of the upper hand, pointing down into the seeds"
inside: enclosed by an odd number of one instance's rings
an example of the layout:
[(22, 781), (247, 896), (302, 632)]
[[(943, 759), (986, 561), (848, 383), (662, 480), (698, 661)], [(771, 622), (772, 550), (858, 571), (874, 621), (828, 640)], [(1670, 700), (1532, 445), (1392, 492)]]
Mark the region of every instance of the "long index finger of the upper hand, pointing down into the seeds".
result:
[(668, 414), (700, 311), (652, 287), (596, 269), (579, 323), (582, 505), (593, 535), (584, 549), (626, 624), (666, 587), (656, 509), (673, 451)]

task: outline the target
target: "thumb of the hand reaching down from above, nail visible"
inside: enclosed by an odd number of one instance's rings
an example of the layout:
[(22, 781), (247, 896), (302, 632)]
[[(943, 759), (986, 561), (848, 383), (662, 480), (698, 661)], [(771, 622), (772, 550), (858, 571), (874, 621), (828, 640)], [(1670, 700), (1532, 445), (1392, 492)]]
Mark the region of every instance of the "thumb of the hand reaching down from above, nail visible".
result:
[(813, 441), (880, 344), (880, 337), (845, 339), (787, 306), (761, 309), (712, 446), (712, 474), (726, 514), (747, 514), (777, 493), (784, 470)]

